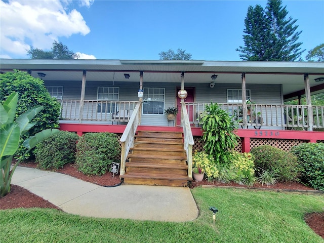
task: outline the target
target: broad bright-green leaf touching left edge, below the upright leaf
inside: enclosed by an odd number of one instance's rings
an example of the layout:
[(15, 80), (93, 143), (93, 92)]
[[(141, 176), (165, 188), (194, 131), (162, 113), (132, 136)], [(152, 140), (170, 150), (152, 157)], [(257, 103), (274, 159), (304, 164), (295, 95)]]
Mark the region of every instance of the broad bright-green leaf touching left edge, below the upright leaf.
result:
[(13, 155), (19, 145), (20, 129), (17, 124), (11, 123), (0, 130), (0, 157)]

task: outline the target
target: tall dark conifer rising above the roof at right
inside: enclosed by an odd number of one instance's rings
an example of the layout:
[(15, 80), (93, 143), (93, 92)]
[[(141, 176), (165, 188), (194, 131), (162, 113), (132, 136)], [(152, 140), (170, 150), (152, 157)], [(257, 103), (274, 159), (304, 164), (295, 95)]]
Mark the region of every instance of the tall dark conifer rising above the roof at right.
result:
[(249, 6), (245, 18), (243, 40), (239, 47), (240, 58), (245, 61), (297, 61), (305, 50), (297, 43), (302, 31), (296, 31), (297, 19), (287, 17), (281, 0), (268, 0), (266, 9)]

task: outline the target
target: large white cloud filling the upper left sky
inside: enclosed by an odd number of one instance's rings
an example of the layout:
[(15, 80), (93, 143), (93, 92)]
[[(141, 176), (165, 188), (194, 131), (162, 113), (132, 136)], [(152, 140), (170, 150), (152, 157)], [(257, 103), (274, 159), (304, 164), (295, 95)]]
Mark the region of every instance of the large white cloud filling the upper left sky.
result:
[[(50, 49), (58, 37), (90, 32), (83, 16), (67, 7), (71, 1), (0, 1), (1, 53), (26, 55), (30, 46)], [(92, 0), (83, 0), (90, 7)]]

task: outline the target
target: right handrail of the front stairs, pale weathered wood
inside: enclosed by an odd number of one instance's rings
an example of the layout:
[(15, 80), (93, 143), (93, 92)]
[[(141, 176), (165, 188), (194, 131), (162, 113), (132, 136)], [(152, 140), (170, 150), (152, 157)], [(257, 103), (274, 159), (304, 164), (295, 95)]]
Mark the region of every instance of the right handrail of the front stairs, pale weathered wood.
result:
[(186, 104), (181, 102), (181, 126), (183, 128), (184, 149), (187, 154), (188, 177), (192, 178), (192, 146), (194, 144)]

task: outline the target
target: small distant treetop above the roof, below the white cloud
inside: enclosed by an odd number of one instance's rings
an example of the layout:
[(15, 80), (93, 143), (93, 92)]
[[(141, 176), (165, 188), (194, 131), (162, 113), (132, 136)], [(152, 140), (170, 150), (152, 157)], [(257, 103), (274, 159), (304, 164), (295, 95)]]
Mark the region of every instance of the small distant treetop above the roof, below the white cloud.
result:
[(27, 50), (31, 59), (78, 59), (79, 55), (70, 51), (67, 46), (61, 42), (54, 41), (51, 51), (30, 47)]

